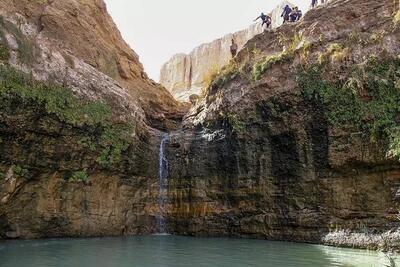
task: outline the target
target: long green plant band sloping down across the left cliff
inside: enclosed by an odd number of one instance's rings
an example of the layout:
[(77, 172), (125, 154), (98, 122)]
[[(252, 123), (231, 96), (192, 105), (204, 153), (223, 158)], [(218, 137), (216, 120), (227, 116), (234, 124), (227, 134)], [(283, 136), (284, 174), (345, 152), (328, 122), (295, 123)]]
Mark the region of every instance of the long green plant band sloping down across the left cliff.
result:
[(132, 143), (133, 126), (114, 122), (107, 104), (80, 100), (68, 88), (35, 82), (11, 67), (0, 66), (0, 104), (6, 108), (15, 99), (42, 107), (63, 123), (94, 129), (99, 134), (88, 136), (79, 144), (101, 151), (97, 162), (103, 167), (119, 162), (122, 152)]

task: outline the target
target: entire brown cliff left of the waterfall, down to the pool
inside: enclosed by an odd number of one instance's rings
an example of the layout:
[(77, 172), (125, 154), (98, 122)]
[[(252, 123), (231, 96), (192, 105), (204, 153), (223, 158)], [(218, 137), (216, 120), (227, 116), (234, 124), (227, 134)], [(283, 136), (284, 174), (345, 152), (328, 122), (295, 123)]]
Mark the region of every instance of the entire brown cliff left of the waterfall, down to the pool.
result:
[(143, 73), (103, 1), (0, 4), (0, 236), (153, 232), (152, 127), (176, 127), (185, 107)]

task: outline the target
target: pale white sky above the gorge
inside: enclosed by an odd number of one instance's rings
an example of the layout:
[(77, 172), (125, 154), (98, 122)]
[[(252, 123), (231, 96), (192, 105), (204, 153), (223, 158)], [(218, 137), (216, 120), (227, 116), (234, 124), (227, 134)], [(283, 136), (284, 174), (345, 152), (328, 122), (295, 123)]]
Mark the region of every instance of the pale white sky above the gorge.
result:
[[(174, 54), (247, 28), (280, 0), (105, 0), (125, 41), (145, 71), (158, 81), (161, 66)], [(306, 10), (311, 0), (292, 0)]]

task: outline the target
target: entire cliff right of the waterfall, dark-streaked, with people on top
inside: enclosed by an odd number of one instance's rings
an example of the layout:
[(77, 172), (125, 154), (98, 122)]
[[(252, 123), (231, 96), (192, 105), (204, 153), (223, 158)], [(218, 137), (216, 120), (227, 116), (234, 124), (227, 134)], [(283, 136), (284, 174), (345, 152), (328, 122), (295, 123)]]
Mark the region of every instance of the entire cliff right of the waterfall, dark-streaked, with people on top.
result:
[(171, 231), (398, 248), (395, 10), (336, 1), (250, 40), (171, 137)]

